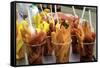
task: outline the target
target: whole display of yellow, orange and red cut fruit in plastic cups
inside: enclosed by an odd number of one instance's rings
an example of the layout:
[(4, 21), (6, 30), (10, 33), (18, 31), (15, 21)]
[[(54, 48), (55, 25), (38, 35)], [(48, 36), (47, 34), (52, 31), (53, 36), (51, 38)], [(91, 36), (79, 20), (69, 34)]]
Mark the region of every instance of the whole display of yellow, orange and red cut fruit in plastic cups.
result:
[(47, 5), (43, 8), (41, 4), (34, 6), (38, 12), (28, 12), (21, 21), (19, 18), (16, 20), (18, 61), (26, 58), (25, 53), (30, 65), (48, 64), (44, 62), (48, 57), (55, 57), (54, 63), (67, 63), (72, 54), (79, 55), (79, 61), (92, 61), (96, 32), (91, 31), (88, 21), (81, 21), (78, 15), (62, 12), (61, 6), (60, 12), (54, 5), (55, 12), (51, 5), (48, 5), (49, 8), (46, 8)]

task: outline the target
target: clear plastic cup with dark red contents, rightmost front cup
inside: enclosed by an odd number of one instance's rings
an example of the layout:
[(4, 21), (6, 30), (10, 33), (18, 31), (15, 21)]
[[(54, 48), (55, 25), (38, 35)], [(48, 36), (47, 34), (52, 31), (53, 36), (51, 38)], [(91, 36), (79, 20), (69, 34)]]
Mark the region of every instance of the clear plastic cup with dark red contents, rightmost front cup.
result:
[(93, 48), (95, 42), (83, 43), (80, 46), (80, 61), (93, 61)]

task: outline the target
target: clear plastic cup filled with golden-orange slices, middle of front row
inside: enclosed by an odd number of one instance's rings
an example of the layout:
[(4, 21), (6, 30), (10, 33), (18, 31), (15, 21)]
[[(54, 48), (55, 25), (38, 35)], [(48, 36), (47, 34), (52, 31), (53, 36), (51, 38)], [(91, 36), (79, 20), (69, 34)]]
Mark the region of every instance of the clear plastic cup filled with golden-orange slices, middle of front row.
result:
[(54, 47), (56, 63), (69, 62), (71, 42), (56, 43), (56, 42), (52, 41), (52, 44), (53, 44), (53, 47)]

